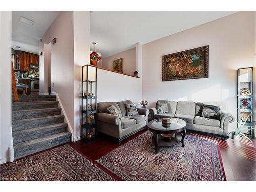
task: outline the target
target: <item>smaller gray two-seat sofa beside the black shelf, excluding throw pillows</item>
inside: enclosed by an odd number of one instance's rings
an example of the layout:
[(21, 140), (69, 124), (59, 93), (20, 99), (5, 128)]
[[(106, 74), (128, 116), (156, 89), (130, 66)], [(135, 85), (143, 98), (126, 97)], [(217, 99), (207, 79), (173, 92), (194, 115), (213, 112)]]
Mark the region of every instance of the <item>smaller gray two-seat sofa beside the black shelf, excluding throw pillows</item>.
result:
[[(108, 135), (112, 139), (120, 142), (144, 129), (147, 125), (149, 110), (138, 108), (139, 115), (126, 116), (126, 103), (132, 103), (132, 101), (97, 103), (97, 132)], [(108, 113), (106, 108), (111, 105), (117, 108), (122, 117)]]

